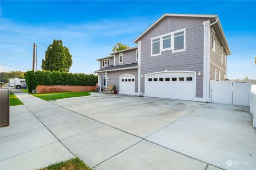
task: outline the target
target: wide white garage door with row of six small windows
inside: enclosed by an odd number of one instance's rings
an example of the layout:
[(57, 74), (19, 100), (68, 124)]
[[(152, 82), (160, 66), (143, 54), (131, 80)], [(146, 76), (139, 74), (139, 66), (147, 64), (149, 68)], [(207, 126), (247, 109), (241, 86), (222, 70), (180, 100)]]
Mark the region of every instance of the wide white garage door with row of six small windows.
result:
[(146, 74), (145, 94), (149, 97), (194, 100), (195, 82), (195, 72), (166, 71)]

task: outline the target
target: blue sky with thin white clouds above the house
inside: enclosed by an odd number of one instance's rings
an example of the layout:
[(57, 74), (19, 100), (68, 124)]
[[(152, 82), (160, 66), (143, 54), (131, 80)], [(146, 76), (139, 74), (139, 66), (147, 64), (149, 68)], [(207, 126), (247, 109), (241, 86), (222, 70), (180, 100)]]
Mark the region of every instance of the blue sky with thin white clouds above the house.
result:
[[(231, 55), (227, 78), (256, 79), (255, 1), (1, 1), (1, 42), (36, 43), (38, 64), (53, 39), (73, 56), (70, 72), (92, 73), (95, 59), (133, 40), (164, 13), (218, 14)], [(33, 45), (1, 44), (1, 64), (31, 69)], [(21, 70), (1, 65), (1, 71)]]

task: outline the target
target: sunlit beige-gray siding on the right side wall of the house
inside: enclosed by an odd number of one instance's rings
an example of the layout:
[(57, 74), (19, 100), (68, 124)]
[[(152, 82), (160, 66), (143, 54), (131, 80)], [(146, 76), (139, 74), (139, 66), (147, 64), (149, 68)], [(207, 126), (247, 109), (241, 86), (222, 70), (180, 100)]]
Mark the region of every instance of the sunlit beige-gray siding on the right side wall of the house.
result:
[(223, 56), (223, 64), (221, 63), (221, 43), (220, 39), (215, 34), (215, 52), (212, 50), (212, 27), (210, 28), (210, 80), (214, 80), (214, 70), (217, 70), (217, 80), (219, 80), (219, 71), (220, 71), (220, 80), (225, 80), (225, 74), (227, 76), (227, 63), (226, 55)]

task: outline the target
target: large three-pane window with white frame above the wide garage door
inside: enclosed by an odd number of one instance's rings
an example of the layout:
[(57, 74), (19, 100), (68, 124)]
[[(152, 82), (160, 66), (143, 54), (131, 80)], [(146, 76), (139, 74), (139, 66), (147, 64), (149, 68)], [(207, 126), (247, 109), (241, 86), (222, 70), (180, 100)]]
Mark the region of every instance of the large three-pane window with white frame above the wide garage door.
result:
[(151, 56), (171, 49), (172, 53), (186, 50), (186, 28), (151, 38)]

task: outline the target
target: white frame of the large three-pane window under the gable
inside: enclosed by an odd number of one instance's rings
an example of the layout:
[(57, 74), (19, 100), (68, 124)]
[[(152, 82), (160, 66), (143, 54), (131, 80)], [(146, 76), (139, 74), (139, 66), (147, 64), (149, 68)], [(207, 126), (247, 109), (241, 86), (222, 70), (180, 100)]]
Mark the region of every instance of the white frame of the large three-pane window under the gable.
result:
[[(184, 36), (184, 42), (183, 42), (184, 43), (184, 48), (174, 50), (174, 34), (179, 33), (179, 32), (183, 32), (183, 34), (175, 36), (175, 37)], [(170, 37), (171, 38), (171, 47), (170, 48), (163, 48), (163, 40), (165, 40), (165, 39), (163, 39), (163, 37), (166, 37), (166, 36), (171, 36)], [(158, 39), (158, 38), (159, 38), (159, 43), (160, 43), (159, 53), (153, 54), (153, 43), (158, 42), (158, 41), (153, 42), (153, 40)], [(166, 38), (166, 39), (168, 39), (168, 38)], [(172, 53), (183, 52), (183, 51), (186, 50), (186, 28), (176, 30), (176, 31), (173, 31), (173, 32), (169, 32), (169, 33), (165, 33), (164, 35), (150, 38), (150, 40), (151, 40), (151, 57), (162, 55), (162, 52), (165, 52), (167, 50), (172, 50)]]

